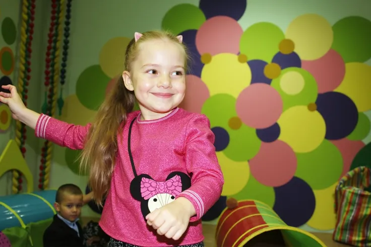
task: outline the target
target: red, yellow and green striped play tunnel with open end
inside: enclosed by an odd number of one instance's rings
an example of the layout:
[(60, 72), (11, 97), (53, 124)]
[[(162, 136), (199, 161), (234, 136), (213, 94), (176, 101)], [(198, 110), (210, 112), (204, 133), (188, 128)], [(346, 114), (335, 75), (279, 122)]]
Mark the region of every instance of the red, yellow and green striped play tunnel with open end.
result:
[(312, 233), (285, 224), (265, 203), (242, 200), (232, 204), (234, 206), (226, 208), (218, 220), (218, 247), (326, 247)]

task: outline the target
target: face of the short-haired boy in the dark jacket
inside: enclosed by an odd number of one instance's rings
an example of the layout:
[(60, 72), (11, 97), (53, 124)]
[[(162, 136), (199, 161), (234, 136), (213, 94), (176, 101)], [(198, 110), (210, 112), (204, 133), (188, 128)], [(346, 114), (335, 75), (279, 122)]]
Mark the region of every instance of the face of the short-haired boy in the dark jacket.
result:
[(55, 202), (54, 208), (60, 216), (73, 222), (81, 215), (83, 195), (64, 194), (60, 203)]

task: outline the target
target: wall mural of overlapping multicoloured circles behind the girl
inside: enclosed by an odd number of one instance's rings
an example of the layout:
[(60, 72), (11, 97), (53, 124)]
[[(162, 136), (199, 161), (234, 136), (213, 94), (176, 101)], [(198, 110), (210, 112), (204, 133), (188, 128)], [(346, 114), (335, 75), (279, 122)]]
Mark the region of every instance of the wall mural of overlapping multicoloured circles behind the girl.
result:
[[(274, 22), (242, 28), (248, 9), (245, 0), (179, 4), (159, 27), (183, 35), (192, 54), (181, 107), (207, 115), (216, 136), (225, 186), (203, 219), (215, 222), (227, 198), (254, 199), (288, 225), (331, 230), (335, 185), (371, 155), (371, 21), (347, 16), (330, 24), (309, 13), (285, 30)], [(107, 37), (66, 97), (61, 120), (94, 117), (131, 37)], [(77, 154), (55, 157), (79, 174)]]

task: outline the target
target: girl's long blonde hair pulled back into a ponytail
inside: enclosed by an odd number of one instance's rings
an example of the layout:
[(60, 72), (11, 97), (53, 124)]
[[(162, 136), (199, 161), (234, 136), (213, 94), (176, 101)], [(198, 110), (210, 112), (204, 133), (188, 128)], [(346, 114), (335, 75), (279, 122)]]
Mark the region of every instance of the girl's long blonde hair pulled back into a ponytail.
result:
[[(137, 42), (134, 38), (130, 41), (125, 54), (126, 70), (132, 71), (133, 62), (140, 52), (140, 44), (154, 39), (169, 40), (181, 45), (185, 53), (184, 67), (187, 69), (189, 59), (187, 47), (170, 32), (149, 31), (143, 33)], [(81, 169), (89, 169), (89, 186), (99, 205), (102, 205), (103, 197), (109, 190), (117, 152), (117, 136), (122, 135), (127, 114), (133, 111), (134, 104), (134, 92), (125, 87), (120, 76), (111, 93), (100, 106), (86, 136), (80, 156)]]

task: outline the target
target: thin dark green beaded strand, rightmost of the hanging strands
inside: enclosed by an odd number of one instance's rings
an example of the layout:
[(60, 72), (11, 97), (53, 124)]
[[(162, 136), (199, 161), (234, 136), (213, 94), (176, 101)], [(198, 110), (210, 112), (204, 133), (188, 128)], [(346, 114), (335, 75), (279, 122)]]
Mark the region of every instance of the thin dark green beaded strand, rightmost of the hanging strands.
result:
[(61, 69), (60, 69), (60, 94), (59, 99), (57, 101), (59, 116), (62, 114), (62, 109), (65, 104), (63, 100), (63, 89), (66, 83), (66, 67), (67, 67), (67, 58), (68, 58), (68, 49), (69, 49), (69, 37), (70, 37), (70, 24), (71, 24), (71, 6), (72, 0), (67, 0), (66, 5), (66, 16), (65, 16), (65, 39), (63, 40), (63, 53), (62, 53), (62, 62), (61, 62)]

